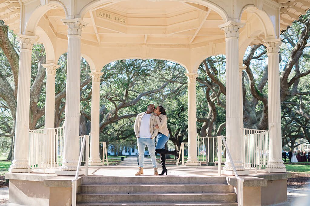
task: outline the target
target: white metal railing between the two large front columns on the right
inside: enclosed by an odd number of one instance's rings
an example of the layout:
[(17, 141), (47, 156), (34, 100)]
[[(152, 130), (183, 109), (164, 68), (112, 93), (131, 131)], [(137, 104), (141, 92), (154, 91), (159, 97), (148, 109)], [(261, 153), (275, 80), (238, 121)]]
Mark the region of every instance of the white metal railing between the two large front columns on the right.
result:
[(270, 162), (269, 131), (243, 128), (242, 163), (246, 168), (263, 169)]

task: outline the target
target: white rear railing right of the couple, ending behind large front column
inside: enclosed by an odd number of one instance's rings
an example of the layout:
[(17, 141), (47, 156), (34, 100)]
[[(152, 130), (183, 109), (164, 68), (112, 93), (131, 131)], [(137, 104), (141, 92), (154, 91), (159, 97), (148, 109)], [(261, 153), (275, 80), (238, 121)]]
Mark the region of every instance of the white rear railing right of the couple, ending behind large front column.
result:
[(221, 161), (220, 164), (224, 163), (225, 147), (222, 145), (222, 141), (219, 137), (200, 137), (197, 135), (197, 141), (199, 162), (205, 162), (206, 165), (213, 163), (214, 166), (216, 166), (216, 164), (219, 164), (218, 157), (223, 155), (223, 158), (221, 158), (223, 162)]

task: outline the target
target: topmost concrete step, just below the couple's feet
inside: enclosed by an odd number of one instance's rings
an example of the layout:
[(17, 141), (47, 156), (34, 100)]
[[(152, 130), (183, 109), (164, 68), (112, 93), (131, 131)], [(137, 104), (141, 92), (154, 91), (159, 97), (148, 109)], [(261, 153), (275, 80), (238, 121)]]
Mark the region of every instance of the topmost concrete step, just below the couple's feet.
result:
[(186, 177), (186, 176), (144, 176), (112, 177), (87, 176), (82, 177), (82, 184), (227, 184), (226, 177)]

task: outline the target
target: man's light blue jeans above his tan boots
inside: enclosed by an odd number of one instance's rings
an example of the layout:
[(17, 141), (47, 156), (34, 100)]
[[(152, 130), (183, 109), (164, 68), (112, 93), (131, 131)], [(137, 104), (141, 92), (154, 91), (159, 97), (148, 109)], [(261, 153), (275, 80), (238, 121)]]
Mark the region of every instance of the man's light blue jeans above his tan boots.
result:
[(139, 151), (139, 167), (143, 167), (145, 146), (148, 146), (148, 153), (150, 154), (153, 168), (156, 168), (157, 162), (155, 156), (155, 139), (139, 137), (137, 141)]

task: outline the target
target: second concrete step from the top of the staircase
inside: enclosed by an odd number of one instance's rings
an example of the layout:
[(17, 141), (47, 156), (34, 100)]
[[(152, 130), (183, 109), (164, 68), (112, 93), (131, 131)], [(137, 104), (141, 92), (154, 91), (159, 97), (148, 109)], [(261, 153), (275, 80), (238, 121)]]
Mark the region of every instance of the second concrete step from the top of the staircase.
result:
[(182, 193), (233, 192), (227, 184), (86, 184), (81, 193)]

